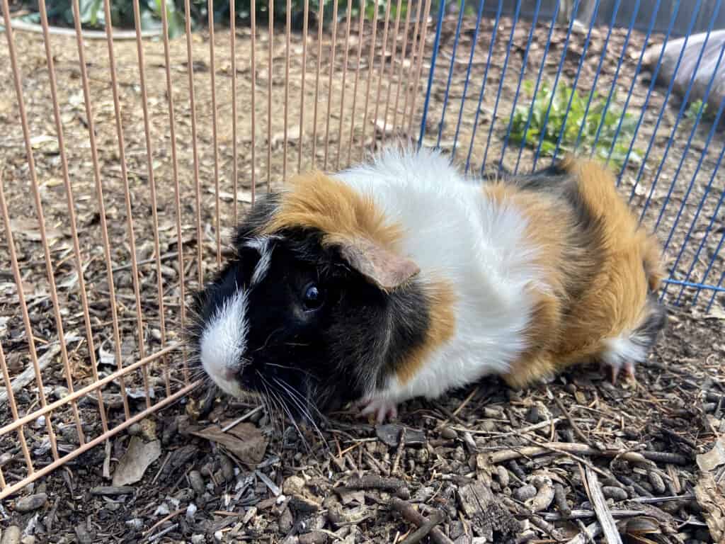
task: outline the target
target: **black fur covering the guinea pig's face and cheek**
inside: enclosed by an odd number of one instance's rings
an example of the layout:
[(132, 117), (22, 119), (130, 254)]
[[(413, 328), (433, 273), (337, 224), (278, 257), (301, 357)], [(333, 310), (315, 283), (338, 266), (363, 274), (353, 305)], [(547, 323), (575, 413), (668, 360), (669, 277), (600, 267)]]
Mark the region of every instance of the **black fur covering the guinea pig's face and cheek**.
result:
[[(236, 257), (197, 299), (197, 348), (204, 323), (237, 289), (249, 289), (259, 252), (246, 242), (278, 209), (279, 196), (257, 202), (234, 237)], [(246, 390), (278, 397), (296, 416), (312, 417), (382, 387), (410, 350), (424, 342), (428, 302), (419, 284), (383, 292), (323, 247), (322, 233), (291, 228), (276, 233), (268, 273), (249, 289), (245, 364), (237, 376)], [(305, 311), (312, 283), (325, 294), (319, 310)], [(240, 323), (241, 331), (241, 323)]]

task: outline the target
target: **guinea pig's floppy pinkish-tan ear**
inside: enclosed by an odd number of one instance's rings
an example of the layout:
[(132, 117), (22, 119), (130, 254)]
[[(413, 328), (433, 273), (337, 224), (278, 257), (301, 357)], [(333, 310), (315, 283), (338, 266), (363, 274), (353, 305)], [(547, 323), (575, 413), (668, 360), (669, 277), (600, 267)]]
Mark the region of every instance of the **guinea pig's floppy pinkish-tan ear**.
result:
[(384, 291), (400, 287), (421, 271), (412, 260), (368, 239), (342, 242), (340, 253), (352, 268)]

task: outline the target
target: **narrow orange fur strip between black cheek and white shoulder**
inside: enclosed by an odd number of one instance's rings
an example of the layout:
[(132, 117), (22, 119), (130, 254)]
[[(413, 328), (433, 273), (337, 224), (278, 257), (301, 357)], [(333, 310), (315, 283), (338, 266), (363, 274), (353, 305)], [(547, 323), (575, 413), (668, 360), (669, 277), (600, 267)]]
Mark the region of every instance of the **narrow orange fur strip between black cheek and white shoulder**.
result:
[(428, 331), (423, 344), (411, 350), (395, 369), (400, 384), (418, 374), (436, 348), (451, 339), (455, 332), (455, 291), (446, 281), (434, 281), (423, 287), (428, 301)]

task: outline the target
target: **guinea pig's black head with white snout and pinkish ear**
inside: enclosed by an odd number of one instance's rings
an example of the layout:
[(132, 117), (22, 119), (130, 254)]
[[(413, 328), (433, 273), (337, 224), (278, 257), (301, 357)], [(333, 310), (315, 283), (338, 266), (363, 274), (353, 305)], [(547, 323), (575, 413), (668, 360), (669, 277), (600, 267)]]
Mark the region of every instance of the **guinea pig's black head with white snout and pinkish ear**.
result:
[(235, 257), (197, 297), (194, 340), (221, 390), (309, 418), (373, 390), (396, 342), (410, 345), (391, 307), (418, 267), (368, 236), (268, 228), (280, 198), (239, 227)]

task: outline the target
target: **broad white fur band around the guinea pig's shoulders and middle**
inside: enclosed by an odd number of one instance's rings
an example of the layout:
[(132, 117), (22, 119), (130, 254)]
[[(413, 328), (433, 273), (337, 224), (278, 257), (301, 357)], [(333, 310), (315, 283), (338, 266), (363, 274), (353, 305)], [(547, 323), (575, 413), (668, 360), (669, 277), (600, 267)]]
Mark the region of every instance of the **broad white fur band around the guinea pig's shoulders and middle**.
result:
[(383, 390), (370, 391), (367, 411), (380, 419), (404, 400), (434, 398), (507, 371), (525, 347), (532, 307), (526, 287), (545, 288), (519, 210), (486, 199), (480, 184), (429, 149), (386, 149), (335, 177), (370, 195), (405, 228), (403, 251), (421, 268), (421, 281), (449, 281), (457, 300), (450, 342), (409, 382), (392, 377)]

